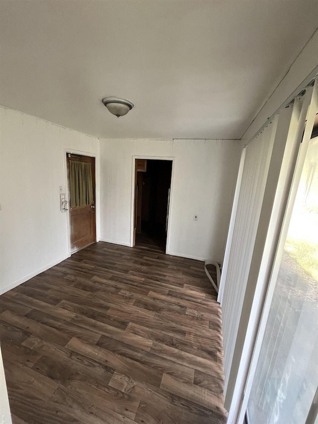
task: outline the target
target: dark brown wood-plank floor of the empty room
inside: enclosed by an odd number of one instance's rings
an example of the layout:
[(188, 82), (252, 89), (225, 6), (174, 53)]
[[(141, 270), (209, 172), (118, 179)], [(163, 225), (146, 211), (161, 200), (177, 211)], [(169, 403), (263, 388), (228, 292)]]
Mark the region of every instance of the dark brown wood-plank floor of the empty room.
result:
[(226, 423), (203, 263), (99, 242), (0, 296), (15, 424)]

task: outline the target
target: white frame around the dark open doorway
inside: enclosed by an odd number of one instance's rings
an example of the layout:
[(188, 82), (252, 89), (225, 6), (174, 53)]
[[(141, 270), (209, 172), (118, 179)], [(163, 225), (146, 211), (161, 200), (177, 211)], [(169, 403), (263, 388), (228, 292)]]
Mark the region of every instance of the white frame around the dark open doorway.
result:
[(175, 167), (175, 157), (174, 156), (143, 156), (143, 155), (134, 155), (132, 157), (132, 183), (131, 183), (131, 210), (130, 210), (130, 247), (133, 247), (134, 243), (134, 216), (135, 216), (135, 166), (136, 159), (149, 159), (155, 161), (171, 161), (171, 181), (170, 181), (170, 201), (168, 208), (168, 229), (167, 229), (167, 240), (165, 245), (165, 254), (169, 252), (170, 244), (170, 233), (171, 233), (171, 212), (173, 205), (173, 186), (174, 186), (174, 167)]

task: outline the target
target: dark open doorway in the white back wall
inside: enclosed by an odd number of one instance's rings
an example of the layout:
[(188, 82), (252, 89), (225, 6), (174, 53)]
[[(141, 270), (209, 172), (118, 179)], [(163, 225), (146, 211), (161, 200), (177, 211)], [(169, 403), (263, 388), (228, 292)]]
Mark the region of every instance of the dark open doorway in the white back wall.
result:
[(135, 160), (134, 245), (165, 252), (172, 161)]

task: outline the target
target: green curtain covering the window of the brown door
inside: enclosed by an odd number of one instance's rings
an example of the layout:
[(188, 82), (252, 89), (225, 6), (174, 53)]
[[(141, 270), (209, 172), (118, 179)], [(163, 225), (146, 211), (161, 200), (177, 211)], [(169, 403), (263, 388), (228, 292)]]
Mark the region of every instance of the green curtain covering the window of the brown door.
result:
[(87, 162), (70, 161), (71, 208), (94, 203), (91, 166)]

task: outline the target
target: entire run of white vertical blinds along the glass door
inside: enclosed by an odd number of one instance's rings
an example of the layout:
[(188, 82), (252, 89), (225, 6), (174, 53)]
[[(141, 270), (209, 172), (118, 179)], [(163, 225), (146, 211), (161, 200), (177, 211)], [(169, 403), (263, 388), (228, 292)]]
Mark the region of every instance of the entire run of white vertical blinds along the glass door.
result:
[[(242, 416), (239, 418), (238, 415), (244, 414), (244, 408), (240, 409), (240, 407), (259, 325), (261, 314), (259, 308), (262, 307), (257, 305), (263, 302), (263, 297), (260, 298), (263, 295), (260, 293), (266, 292), (260, 288), (260, 284), (265, 287), (268, 283), (267, 268), (271, 269), (272, 266), (270, 265), (272, 255), (269, 257), (269, 251), (272, 252), (277, 246), (281, 227), (278, 215), (285, 210), (281, 206), (282, 202), (287, 201), (285, 197), (289, 189), (285, 186), (290, 186), (291, 170), (294, 169), (296, 161), (296, 154), (293, 152), (296, 152), (295, 149), (298, 150), (303, 138), (306, 116), (307, 120), (309, 119), (307, 110), (311, 105), (313, 86), (306, 87), (306, 94), (303, 96), (304, 92), (305, 90), (297, 96), (295, 103), (290, 105), (289, 113), (286, 109), (280, 111), (242, 152), (218, 298), (222, 305), (224, 393), (226, 407), (229, 410), (229, 423), (240, 423)], [(307, 127), (308, 125), (306, 125), (306, 131)], [(282, 146), (285, 146), (284, 151)], [(269, 196), (268, 193), (272, 195)], [(260, 227), (263, 222), (266, 229)], [(263, 246), (265, 238), (266, 246)], [(258, 252), (259, 260), (261, 260), (261, 263), (257, 262), (256, 265), (255, 262), (251, 263), (254, 252)], [(249, 279), (251, 265), (254, 266), (252, 273), (252, 276), (255, 276), (254, 285)], [(258, 268), (256, 269), (255, 266)], [(259, 272), (258, 278), (257, 272)], [(253, 294), (246, 293), (247, 282), (249, 282), (249, 290), (252, 288), (255, 290), (255, 297), (258, 296), (256, 300), (254, 297), (252, 305), (250, 296)], [(245, 294), (249, 296), (247, 301), (245, 301), (246, 298), (244, 299)], [(248, 304), (248, 310), (246, 310), (246, 304)], [(239, 327), (243, 312), (244, 317), (249, 317), (245, 336), (242, 333), (243, 329)], [(242, 326), (245, 324), (247, 325), (247, 321), (243, 320)], [(238, 332), (239, 344), (237, 344)], [(246, 408), (246, 401), (244, 402)], [(237, 421), (238, 418), (239, 421)]]

